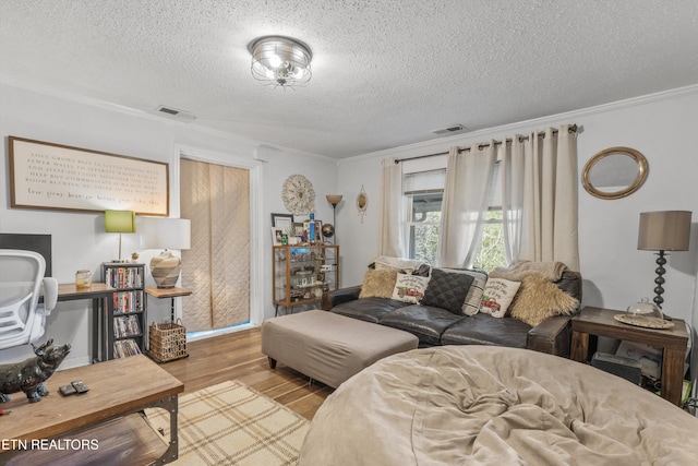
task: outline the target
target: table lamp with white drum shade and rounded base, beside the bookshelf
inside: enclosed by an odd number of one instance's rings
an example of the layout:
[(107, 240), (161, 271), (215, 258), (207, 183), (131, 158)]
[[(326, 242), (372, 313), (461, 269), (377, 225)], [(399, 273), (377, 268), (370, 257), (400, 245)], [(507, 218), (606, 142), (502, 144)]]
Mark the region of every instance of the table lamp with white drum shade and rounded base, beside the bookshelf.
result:
[(177, 285), (182, 261), (168, 249), (191, 248), (191, 222), (184, 218), (141, 217), (141, 246), (165, 249), (151, 260), (151, 274), (158, 288)]

